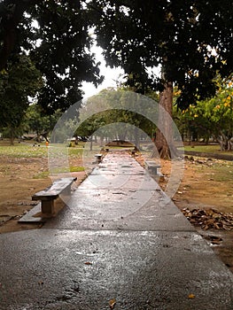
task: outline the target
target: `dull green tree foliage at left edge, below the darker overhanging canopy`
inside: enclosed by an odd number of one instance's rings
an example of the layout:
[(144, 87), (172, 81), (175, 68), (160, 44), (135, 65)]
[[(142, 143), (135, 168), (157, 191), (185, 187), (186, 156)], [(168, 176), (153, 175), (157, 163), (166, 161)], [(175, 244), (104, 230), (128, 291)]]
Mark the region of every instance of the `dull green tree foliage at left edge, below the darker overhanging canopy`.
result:
[(34, 97), (42, 85), (40, 72), (25, 54), (11, 59), (8, 69), (0, 73), (0, 123), (12, 138), (22, 132), (28, 96)]

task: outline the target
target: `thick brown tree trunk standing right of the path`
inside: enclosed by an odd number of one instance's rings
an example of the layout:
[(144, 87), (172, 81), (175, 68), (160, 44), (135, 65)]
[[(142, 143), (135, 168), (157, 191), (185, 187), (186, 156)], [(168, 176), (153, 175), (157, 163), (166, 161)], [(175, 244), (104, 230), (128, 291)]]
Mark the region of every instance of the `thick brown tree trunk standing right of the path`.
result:
[(159, 96), (159, 120), (155, 145), (160, 158), (171, 159), (177, 156), (173, 136), (173, 83), (165, 82), (164, 90)]

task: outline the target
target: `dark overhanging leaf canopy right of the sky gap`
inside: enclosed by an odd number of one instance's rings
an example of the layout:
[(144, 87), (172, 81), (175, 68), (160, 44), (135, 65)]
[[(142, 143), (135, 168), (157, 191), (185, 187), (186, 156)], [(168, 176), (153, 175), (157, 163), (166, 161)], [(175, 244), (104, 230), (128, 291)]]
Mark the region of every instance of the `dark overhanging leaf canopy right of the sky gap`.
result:
[[(216, 72), (232, 71), (230, 0), (92, 0), (97, 43), (109, 66), (122, 66), (128, 84), (140, 92), (162, 89), (172, 81), (181, 90), (177, 104), (186, 108), (214, 96)], [(154, 67), (163, 67), (163, 80)]]

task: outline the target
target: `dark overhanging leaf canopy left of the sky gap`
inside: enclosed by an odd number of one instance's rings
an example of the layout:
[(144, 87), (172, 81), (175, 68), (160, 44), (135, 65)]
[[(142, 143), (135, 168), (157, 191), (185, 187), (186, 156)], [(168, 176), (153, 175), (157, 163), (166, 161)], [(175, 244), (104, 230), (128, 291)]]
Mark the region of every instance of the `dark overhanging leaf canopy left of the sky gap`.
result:
[(4, 0), (0, 3), (0, 70), (24, 50), (43, 74), (38, 102), (63, 111), (82, 98), (82, 81), (102, 81), (90, 52), (84, 1)]

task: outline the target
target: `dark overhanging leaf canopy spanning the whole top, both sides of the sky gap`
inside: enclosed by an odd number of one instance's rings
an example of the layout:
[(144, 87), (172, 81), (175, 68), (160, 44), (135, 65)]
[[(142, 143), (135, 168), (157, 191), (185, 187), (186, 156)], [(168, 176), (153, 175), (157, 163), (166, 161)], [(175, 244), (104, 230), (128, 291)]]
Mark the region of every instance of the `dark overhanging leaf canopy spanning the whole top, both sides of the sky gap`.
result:
[(39, 103), (66, 110), (82, 98), (82, 81), (102, 81), (89, 51), (89, 27), (109, 66), (122, 66), (137, 91), (162, 89), (154, 74), (173, 81), (186, 108), (214, 95), (216, 72), (232, 71), (230, 0), (4, 0), (0, 3), (0, 70), (14, 53), (27, 50), (42, 72)]

